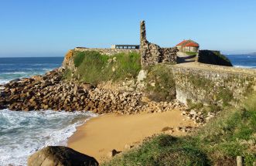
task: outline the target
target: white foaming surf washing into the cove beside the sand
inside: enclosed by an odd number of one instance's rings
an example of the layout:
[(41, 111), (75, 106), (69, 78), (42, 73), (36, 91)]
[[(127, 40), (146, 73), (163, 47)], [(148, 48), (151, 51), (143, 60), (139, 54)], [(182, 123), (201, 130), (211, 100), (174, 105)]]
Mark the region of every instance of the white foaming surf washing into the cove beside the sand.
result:
[(78, 111), (0, 110), (0, 165), (26, 165), (27, 157), (43, 147), (67, 145), (76, 127), (95, 116)]

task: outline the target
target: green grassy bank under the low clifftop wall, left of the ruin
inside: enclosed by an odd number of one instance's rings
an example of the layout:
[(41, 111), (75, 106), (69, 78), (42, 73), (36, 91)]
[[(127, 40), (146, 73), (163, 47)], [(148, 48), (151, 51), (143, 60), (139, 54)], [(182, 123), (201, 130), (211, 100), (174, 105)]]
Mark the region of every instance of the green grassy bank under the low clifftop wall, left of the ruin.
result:
[(138, 53), (106, 56), (94, 51), (74, 52), (73, 60), (77, 67), (77, 78), (81, 82), (92, 84), (108, 80), (135, 79), (141, 69)]

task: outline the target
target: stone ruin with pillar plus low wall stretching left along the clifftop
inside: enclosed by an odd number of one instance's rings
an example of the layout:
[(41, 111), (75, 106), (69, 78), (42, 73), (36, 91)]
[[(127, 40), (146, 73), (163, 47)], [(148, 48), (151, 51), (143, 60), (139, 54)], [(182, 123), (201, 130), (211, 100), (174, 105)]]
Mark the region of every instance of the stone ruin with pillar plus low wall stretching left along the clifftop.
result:
[[(138, 49), (139, 48), (139, 49)], [(142, 56), (142, 66), (152, 66), (157, 63), (177, 63), (177, 52), (179, 49), (176, 47), (172, 48), (161, 48), (160, 46), (148, 42), (146, 39), (145, 21), (140, 24), (140, 46), (138, 45), (115, 45), (111, 49), (97, 49), (97, 48), (86, 48), (86, 47), (76, 47), (67, 53), (63, 66), (69, 62), (70, 57), (72, 57), (72, 51), (86, 52), (86, 51), (96, 51), (104, 55), (112, 56), (117, 53), (140, 53)], [(69, 55), (70, 54), (70, 55)]]

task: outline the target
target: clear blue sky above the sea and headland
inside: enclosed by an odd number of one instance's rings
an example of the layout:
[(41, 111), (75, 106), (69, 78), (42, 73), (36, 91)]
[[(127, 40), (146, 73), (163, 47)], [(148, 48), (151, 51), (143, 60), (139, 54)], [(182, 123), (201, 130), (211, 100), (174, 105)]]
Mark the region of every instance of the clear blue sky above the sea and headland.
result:
[(201, 49), (256, 52), (254, 0), (1, 0), (0, 56), (63, 56), (76, 46), (172, 47), (193, 39)]

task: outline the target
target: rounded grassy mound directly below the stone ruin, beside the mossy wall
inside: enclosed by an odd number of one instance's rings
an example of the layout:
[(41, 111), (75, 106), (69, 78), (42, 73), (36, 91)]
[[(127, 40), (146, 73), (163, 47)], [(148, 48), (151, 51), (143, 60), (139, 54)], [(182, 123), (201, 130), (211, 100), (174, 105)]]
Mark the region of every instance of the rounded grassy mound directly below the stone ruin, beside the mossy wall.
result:
[(175, 98), (175, 81), (172, 71), (165, 65), (148, 67), (148, 75), (145, 80), (145, 93), (156, 101), (166, 101)]

